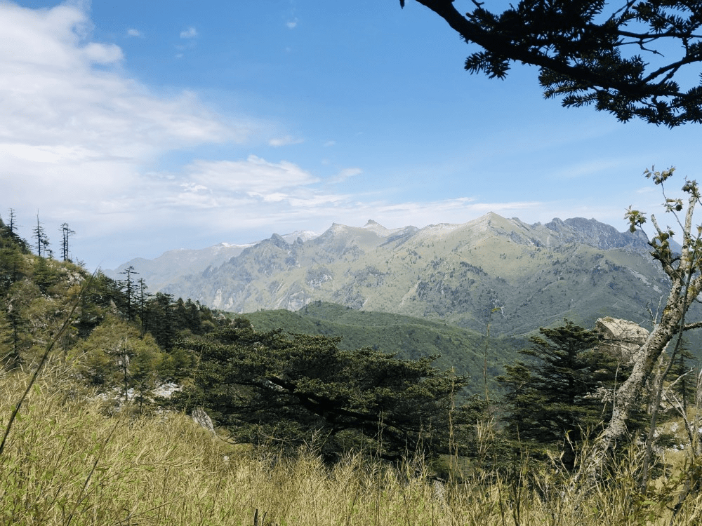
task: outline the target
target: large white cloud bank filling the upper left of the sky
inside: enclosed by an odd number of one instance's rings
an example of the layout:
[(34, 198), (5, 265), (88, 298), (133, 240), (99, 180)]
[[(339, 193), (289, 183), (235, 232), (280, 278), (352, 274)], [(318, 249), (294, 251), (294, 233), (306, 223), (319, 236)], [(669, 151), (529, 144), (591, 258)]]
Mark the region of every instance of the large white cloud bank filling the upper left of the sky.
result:
[(74, 4), (2, 4), (0, 187), (8, 206), (41, 208), (47, 222), (53, 214), (83, 221), (84, 233), (106, 233), (120, 228), (111, 214), (135, 210), (133, 221), (144, 220), (150, 205), (140, 196), (163, 184), (143, 170), (160, 156), (243, 142), (254, 126), (225, 121), (194, 93), (152, 93), (124, 75), (121, 49), (93, 41), (90, 28)]

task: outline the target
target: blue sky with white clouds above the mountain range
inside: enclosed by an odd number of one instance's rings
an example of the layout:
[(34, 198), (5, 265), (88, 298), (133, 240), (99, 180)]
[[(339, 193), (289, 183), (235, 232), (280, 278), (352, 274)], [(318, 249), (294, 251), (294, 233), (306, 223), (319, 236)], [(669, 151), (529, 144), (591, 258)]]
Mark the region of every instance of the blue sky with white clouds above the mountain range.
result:
[(68, 222), (72, 255), (114, 268), (369, 219), (623, 230), (661, 201), (644, 168), (698, 175), (700, 126), (563, 109), (529, 67), (470, 75), (406, 4), (0, 0), (0, 216), (29, 238), (39, 210), (55, 252)]

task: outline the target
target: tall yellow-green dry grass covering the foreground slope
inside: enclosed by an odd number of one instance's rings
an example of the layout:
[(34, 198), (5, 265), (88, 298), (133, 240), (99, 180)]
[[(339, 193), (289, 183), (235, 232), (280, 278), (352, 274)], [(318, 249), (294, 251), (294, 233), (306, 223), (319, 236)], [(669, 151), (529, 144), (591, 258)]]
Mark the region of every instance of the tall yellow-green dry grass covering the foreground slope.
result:
[[(411, 463), (350, 455), (325, 466), (313, 452), (253, 454), (180, 414), (107, 417), (68, 371), (49, 369), (0, 456), (0, 524), (250, 526), (256, 510), (259, 526), (670, 523), (678, 481), (658, 480), (644, 499), (635, 456), (585, 499), (557, 473), (529, 471), (527, 461), (510, 478), (476, 470), (441, 485)], [(26, 386), (23, 375), (0, 378), (1, 425)], [(691, 497), (675, 524), (700, 509)]]

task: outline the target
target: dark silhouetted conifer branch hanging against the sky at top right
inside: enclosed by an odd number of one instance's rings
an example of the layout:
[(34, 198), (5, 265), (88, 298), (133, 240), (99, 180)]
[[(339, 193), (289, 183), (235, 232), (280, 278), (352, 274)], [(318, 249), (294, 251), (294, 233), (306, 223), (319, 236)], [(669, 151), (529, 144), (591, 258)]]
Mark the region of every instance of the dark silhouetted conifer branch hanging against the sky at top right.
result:
[(482, 48), (465, 60), (470, 73), (504, 79), (522, 62), (565, 107), (595, 104), (619, 121), (670, 127), (702, 122), (702, 83), (678, 83), (702, 61), (702, 1), (522, 0), (492, 13), (473, 0), (465, 15), (453, 0), (416, 1)]

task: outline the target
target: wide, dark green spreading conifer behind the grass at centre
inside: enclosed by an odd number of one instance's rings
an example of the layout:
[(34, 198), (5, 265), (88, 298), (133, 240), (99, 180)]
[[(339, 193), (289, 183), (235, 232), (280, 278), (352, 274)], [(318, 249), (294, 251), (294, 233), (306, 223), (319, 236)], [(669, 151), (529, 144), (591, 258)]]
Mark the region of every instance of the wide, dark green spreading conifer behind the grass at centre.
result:
[[(382, 457), (449, 445), (449, 412), (465, 377), (440, 372), (432, 358), (399, 360), (373, 349), (341, 350), (338, 338), (220, 331), (192, 346), (200, 364), (186, 407), (204, 405), (239, 440), (321, 437), (324, 454), (372, 448)], [(462, 424), (456, 410), (453, 422)]]

